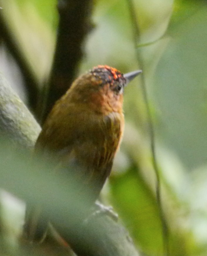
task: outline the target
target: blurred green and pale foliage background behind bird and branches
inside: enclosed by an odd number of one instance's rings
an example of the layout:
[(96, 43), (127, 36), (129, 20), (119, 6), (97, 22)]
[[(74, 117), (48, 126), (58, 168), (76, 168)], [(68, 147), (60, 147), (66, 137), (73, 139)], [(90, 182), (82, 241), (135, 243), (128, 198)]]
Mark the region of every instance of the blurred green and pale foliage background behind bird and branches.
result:
[[(56, 4), (56, 0), (0, 1), (0, 11), (40, 86), (48, 77), (55, 49)], [(79, 74), (100, 64), (123, 73), (136, 70), (139, 52), (154, 122), (170, 255), (207, 255), (207, 3), (134, 0), (134, 6), (140, 30), (137, 49), (128, 2), (94, 1), (95, 28), (83, 45)], [(4, 40), (0, 42), (0, 70), (29, 105), (18, 65)], [(125, 89), (124, 112), (122, 146), (102, 198), (113, 205), (141, 252), (162, 255), (156, 179), (139, 79)], [(5, 222), (6, 215), (9, 228), (19, 229), (22, 204), (5, 194), (1, 197)]]

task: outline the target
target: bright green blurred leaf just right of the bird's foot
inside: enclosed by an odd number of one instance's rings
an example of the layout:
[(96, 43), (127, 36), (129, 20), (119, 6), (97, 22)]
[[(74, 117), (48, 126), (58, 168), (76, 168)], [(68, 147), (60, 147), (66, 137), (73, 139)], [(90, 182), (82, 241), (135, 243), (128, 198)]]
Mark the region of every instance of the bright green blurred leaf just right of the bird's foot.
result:
[(134, 168), (113, 177), (110, 184), (113, 205), (139, 246), (149, 255), (161, 255), (161, 221), (152, 191)]

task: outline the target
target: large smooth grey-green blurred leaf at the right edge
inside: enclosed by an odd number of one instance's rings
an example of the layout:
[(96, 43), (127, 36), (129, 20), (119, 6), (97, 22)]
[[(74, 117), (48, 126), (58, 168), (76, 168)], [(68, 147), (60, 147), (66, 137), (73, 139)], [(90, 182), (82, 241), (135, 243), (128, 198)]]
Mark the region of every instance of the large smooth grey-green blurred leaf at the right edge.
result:
[(175, 32), (159, 62), (154, 101), (159, 108), (159, 136), (190, 170), (206, 163), (206, 8)]

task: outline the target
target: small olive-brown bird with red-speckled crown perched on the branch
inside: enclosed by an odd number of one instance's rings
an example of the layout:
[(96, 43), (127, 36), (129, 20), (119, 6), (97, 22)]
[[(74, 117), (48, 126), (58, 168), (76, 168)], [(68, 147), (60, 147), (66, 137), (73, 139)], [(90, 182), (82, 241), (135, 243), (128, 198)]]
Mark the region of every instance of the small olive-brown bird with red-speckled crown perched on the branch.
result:
[[(92, 203), (110, 174), (122, 140), (124, 87), (141, 72), (123, 75), (99, 65), (78, 77), (55, 103), (36, 141), (34, 153), (55, 154), (66, 172), (75, 172), (82, 192), (84, 186), (90, 189)], [(24, 231), (29, 240), (41, 240), (47, 223), (40, 209), (28, 206)]]

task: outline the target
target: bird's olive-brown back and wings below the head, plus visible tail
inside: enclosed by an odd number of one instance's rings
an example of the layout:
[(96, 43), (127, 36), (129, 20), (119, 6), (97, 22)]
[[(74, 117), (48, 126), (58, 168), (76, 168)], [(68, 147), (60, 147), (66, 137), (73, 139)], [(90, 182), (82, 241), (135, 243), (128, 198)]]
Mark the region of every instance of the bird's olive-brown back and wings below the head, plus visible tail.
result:
[[(55, 115), (46, 120), (36, 142), (35, 153), (41, 152), (42, 155), (51, 151), (58, 155), (59, 166), (56, 169), (61, 166), (66, 172), (73, 170), (80, 184), (78, 189), (81, 191), (90, 186), (94, 196), (92, 201), (95, 201), (110, 174), (120, 143), (120, 116), (114, 113), (100, 118), (77, 110), (64, 115), (61, 113), (61, 119), (60, 115)], [(42, 239), (47, 223), (42, 206), (28, 205), (25, 231), (31, 240)]]

